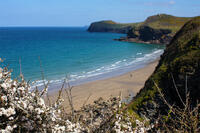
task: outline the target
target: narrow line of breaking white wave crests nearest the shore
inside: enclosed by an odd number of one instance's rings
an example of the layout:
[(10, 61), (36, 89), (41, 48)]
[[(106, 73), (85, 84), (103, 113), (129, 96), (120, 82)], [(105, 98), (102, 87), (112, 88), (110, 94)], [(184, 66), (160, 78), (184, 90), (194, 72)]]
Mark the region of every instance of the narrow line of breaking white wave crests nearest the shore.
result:
[[(107, 74), (112, 71), (117, 71), (119, 69), (123, 69), (123, 68), (126, 69), (126, 67), (130, 67), (130, 66), (132, 66), (134, 68), (134, 66), (145, 65), (145, 64), (150, 63), (150, 62), (154, 61), (155, 59), (157, 59), (162, 53), (163, 53), (163, 50), (161, 50), (161, 49), (157, 49), (149, 54), (137, 53), (136, 55), (138, 55), (138, 56), (140, 55), (140, 57), (133, 57), (131, 59), (122, 59), (122, 60), (116, 61), (110, 65), (101, 66), (101, 67), (96, 68), (91, 71), (82, 71), (79, 73), (70, 74), (68, 77), (69, 78), (68, 81), (75, 82), (78, 80), (84, 80), (84, 79), (99, 76), (102, 74)], [(143, 55), (143, 56), (141, 56), (141, 55)], [(48, 82), (50, 84), (60, 84), (60, 83), (63, 83), (64, 79), (65, 78), (61, 78), (59, 80), (50, 80), (50, 81), (39, 80), (39, 81), (35, 81), (35, 83), (32, 85), (32, 87), (42, 86), (42, 85), (44, 85), (44, 83), (47, 84)]]

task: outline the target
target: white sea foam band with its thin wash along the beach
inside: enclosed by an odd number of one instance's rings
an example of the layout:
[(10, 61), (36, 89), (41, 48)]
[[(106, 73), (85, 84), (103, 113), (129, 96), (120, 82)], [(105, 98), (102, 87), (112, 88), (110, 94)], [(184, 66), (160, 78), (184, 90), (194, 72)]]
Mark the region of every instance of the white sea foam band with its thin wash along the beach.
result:
[[(131, 59), (122, 59), (119, 61), (116, 61), (113, 64), (102, 66), (100, 68), (97, 68), (92, 71), (82, 71), (80, 73), (71, 74), (68, 76), (67, 81), (71, 83), (72, 85), (79, 85), (82, 83), (85, 83), (87, 81), (93, 81), (98, 79), (104, 79), (109, 78), (112, 76), (117, 76), (118, 74), (123, 74), (132, 70), (139, 69), (141, 67), (144, 67), (148, 63), (158, 59), (160, 55), (163, 53), (162, 49), (156, 49), (152, 53), (149, 54), (143, 54), (143, 56), (131, 58)], [(142, 54), (139, 54), (142, 55)], [(118, 73), (118, 74), (117, 74)], [(50, 88), (53, 86), (61, 86), (61, 84), (66, 80), (65, 77), (57, 80), (39, 80), (36, 81), (32, 87), (41, 87), (47, 83), (49, 83)], [(80, 82), (80, 83), (79, 83)]]

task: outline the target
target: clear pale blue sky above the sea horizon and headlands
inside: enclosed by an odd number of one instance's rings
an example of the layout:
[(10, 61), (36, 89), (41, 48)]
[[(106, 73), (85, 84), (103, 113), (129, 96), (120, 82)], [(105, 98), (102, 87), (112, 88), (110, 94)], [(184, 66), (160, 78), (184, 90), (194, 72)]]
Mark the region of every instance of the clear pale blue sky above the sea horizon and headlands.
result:
[(139, 22), (150, 15), (200, 15), (200, 0), (0, 0), (0, 26), (85, 26)]

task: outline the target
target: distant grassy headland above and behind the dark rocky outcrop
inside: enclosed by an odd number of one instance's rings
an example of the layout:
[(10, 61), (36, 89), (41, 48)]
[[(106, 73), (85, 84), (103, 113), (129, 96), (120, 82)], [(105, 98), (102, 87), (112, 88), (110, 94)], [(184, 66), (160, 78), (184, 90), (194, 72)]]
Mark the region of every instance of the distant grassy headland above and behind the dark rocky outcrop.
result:
[[(185, 22), (190, 20), (187, 17), (175, 17), (167, 14), (158, 14), (148, 17), (144, 22), (139, 23), (116, 23), (114, 21), (94, 22), (88, 28), (90, 32), (117, 32), (127, 33), (130, 29), (136, 29), (140, 26), (149, 26), (155, 29), (170, 29), (172, 32), (179, 30)], [(126, 30), (125, 30), (126, 29)]]

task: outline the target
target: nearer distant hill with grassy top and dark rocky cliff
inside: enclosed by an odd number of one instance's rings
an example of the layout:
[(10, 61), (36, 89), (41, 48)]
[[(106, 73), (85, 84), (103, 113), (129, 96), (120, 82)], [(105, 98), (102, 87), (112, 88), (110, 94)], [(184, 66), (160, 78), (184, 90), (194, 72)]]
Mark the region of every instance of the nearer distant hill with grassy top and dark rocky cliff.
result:
[(168, 44), (176, 32), (191, 18), (158, 14), (148, 17), (143, 24), (128, 31), (122, 41)]

